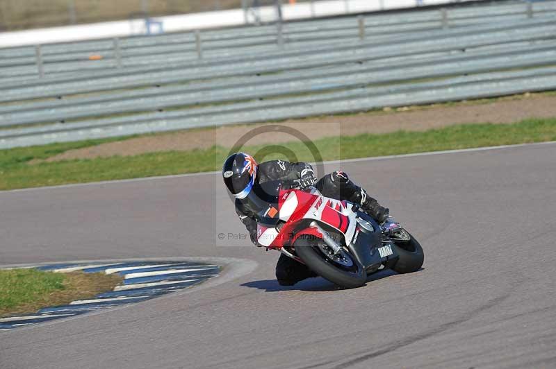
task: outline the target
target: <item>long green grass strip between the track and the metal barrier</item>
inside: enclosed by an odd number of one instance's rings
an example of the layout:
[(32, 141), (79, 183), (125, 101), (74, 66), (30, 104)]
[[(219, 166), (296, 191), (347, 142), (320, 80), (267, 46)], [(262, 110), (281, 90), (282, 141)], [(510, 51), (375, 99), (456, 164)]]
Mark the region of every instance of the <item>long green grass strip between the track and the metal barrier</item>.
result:
[[(113, 140), (113, 139), (111, 139)], [(129, 157), (99, 157), (91, 160), (40, 162), (58, 153), (99, 142), (83, 141), (68, 144), (33, 146), (0, 151), (0, 189), (18, 189), (56, 184), (118, 180), (153, 175), (170, 175), (214, 171), (220, 166), (229, 149), (213, 146), (193, 151), (168, 151)], [(556, 118), (528, 119), (514, 124), (464, 124), (424, 132), (392, 132), (382, 135), (329, 137), (313, 141), (323, 160), (372, 157), (476, 148), (506, 144), (556, 141)], [(313, 155), (302, 142), (279, 144), (296, 154), (296, 160), (313, 161)], [(269, 160), (279, 155), (263, 155), (265, 146), (248, 146), (243, 150), (257, 160)], [(283, 157), (285, 159), (292, 159)]]

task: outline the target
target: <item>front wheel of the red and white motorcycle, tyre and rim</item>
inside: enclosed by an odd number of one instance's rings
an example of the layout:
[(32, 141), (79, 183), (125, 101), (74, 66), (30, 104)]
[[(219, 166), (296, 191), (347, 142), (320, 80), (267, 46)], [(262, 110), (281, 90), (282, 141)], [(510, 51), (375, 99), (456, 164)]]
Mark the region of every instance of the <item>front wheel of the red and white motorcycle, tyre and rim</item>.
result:
[[(364, 286), (367, 281), (365, 268), (350, 255), (343, 252), (341, 257), (334, 257), (327, 252), (328, 246), (322, 239), (297, 239), (295, 252), (311, 269), (321, 277), (345, 289)], [(331, 250), (332, 251), (332, 250)]]

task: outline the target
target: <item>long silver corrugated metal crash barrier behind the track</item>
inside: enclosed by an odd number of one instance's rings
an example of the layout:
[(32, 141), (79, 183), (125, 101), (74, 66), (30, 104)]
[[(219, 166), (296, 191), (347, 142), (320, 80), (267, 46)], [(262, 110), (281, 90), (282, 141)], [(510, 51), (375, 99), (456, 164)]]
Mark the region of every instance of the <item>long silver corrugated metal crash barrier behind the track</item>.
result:
[[(361, 37), (356, 28), (342, 38), (342, 22), (357, 24), (356, 17), (336, 24), (300, 22), (291, 25), (296, 30), (291, 35), (323, 35), (322, 40), (288, 41), (284, 49), (261, 44), (229, 50), (218, 36), (224, 31), (213, 31), (224, 49), (215, 49), (221, 52), (215, 55), (203, 49), (201, 60), (173, 55), (172, 40), (179, 35), (144, 46), (160, 53), (145, 65), (129, 64), (122, 52), (122, 68), (105, 61), (104, 68), (77, 73), (71, 68), (80, 62), (61, 58), (51, 67), (65, 72), (49, 76), (52, 70), (45, 69), (44, 78), (6, 79), (0, 85), (0, 148), (556, 89), (556, 2), (540, 4), (545, 11), (537, 12), (535, 3), (532, 17), (504, 16), (498, 22), (492, 14), (523, 10), (523, 3), (503, 10), (457, 9), (483, 22), (448, 28), (412, 28), (403, 14), (380, 15), (373, 27), (405, 28), (372, 37)], [(406, 16), (430, 22), (432, 13)], [(261, 35), (243, 38), (266, 37), (268, 30), (254, 29)], [(53, 45), (42, 57), (71, 46)], [(0, 56), (0, 62), (6, 60)]]

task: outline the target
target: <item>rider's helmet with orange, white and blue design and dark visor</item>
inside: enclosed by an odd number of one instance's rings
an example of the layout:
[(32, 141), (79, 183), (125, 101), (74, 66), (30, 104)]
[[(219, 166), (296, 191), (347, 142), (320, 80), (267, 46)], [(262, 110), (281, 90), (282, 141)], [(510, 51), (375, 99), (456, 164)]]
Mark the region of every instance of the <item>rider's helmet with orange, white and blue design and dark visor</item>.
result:
[(231, 154), (222, 166), (224, 184), (235, 198), (245, 198), (251, 192), (256, 178), (257, 164), (246, 153)]

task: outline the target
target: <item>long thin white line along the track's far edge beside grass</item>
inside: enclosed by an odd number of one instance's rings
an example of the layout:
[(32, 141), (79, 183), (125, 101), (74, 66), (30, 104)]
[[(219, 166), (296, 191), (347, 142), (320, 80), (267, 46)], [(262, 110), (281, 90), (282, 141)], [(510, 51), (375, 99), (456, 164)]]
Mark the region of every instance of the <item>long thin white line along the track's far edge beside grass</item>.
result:
[[(418, 157), (427, 155), (443, 155), (443, 154), (456, 154), (456, 153), (472, 153), (473, 151), (490, 151), (499, 150), (500, 148), (520, 148), (525, 146), (543, 146), (543, 145), (553, 145), (556, 141), (547, 142), (534, 142), (532, 144), (515, 144), (515, 145), (502, 145), (502, 146), (486, 146), (479, 148), (461, 148), (457, 150), (445, 150), (445, 151), (427, 151), (425, 153), (414, 153), (414, 154), (403, 154), (403, 155), (389, 155), (389, 156), (373, 156), (373, 157), (357, 157), (354, 159), (343, 159), (343, 160), (332, 160), (330, 162), (323, 162), (322, 164), (338, 164), (338, 163), (350, 163), (350, 162), (370, 162), (374, 160), (389, 160), (398, 159), (404, 157)], [(0, 191), (1, 194), (10, 194), (11, 192), (25, 192), (25, 191), (40, 191), (45, 189), (68, 189), (73, 187), (83, 187), (83, 186), (98, 186), (102, 184), (120, 184), (120, 183), (131, 183), (131, 182), (148, 182), (152, 180), (166, 180), (166, 179), (177, 179), (192, 177), (195, 175), (215, 175), (220, 174), (220, 171), (211, 172), (197, 172), (197, 173), (184, 173), (184, 174), (174, 174), (174, 175), (158, 175), (153, 177), (142, 177), (142, 178), (129, 178), (127, 180), (105, 180), (98, 182), (88, 182), (88, 183), (74, 183), (74, 184), (60, 184), (59, 186), (44, 186), (44, 187), (33, 187), (28, 189), (10, 189), (8, 191)]]

